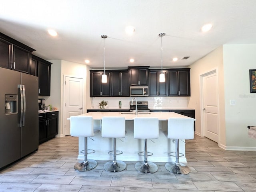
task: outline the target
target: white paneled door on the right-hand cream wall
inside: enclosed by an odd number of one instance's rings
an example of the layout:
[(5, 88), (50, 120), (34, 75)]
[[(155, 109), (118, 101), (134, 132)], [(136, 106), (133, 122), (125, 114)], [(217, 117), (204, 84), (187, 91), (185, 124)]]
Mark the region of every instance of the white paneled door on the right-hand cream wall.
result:
[(218, 143), (218, 79), (216, 71), (203, 75), (203, 132), (204, 136)]

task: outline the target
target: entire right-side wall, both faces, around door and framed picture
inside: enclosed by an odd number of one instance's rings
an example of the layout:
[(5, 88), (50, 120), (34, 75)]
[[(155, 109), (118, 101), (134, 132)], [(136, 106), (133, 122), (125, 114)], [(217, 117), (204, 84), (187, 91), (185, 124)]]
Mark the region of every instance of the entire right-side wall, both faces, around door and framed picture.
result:
[[(256, 125), (256, 94), (250, 93), (249, 69), (256, 69), (256, 45), (223, 45), (190, 68), (191, 97), (188, 107), (196, 110), (196, 133), (201, 134), (200, 74), (218, 71), (220, 141), (228, 150), (256, 150), (247, 125)], [(230, 105), (236, 100), (236, 105)]]

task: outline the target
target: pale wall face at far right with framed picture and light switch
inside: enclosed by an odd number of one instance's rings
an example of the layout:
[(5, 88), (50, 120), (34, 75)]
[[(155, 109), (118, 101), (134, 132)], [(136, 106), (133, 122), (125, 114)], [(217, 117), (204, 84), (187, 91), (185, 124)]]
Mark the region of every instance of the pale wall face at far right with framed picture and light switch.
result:
[[(224, 45), (226, 145), (228, 149), (254, 149), (247, 125), (256, 125), (256, 93), (250, 93), (249, 69), (256, 69), (256, 44)], [(236, 100), (236, 105), (230, 105)]]

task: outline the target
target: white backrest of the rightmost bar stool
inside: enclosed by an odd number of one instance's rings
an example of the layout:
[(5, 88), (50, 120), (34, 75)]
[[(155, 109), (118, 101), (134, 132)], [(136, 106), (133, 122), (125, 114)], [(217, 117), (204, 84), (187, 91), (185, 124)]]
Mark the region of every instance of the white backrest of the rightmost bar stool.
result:
[(194, 119), (169, 118), (168, 139), (194, 139)]

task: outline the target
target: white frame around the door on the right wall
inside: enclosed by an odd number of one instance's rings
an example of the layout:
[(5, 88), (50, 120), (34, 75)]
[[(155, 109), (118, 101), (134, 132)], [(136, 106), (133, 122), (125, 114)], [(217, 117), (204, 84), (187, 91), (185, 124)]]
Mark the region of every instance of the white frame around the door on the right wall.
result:
[(200, 116), (201, 116), (201, 137), (205, 137), (205, 127), (204, 127), (204, 110), (203, 110), (203, 106), (204, 106), (204, 94), (203, 94), (203, 78), (204, 76), (207, 76), (209, 74), (213, 74), (216, 73), (217, 76), (217, 103), (218, 103), (218, 144), (220, 141), (220, 105), (219, 105), (219, 78), (218, 78), (218, 68), (213, 68), (209, 71), (206, 71), (204, 73), (201, 73), (199, 75), (200, 78)]

